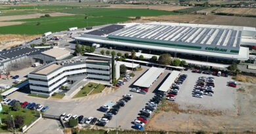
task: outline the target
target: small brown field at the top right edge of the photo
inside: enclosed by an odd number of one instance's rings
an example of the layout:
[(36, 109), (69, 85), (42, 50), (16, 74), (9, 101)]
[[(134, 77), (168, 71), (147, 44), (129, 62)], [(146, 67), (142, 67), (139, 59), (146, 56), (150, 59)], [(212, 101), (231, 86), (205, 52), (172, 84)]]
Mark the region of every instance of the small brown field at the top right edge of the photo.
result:
[(256, 8), (218, 8), (215, 12), (256, 15)]

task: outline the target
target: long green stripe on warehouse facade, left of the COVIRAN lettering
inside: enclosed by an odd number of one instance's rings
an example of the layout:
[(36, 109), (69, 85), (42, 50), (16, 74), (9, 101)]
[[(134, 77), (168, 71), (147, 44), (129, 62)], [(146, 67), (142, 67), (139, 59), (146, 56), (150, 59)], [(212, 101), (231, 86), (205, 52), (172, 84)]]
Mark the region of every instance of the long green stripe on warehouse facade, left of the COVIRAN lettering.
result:
[(181, 48), (194, 48), (194, 49), (201, 49), (200, 46), (188, 46), (188, 45), (182, 45), (182, 44), (169, 44), (169, 43), (163, 43), (163, 42), (150, 42), (150, 41), (138, 41), (138, 40), (131, 40), (131, 39), (120, 39), (120, 38), (113, 38), (108, 37), (108, 39), (117, 40), (117, 41), (128, 41), (128, 42), (140, 42), (140, 43), (148, 43), (148, 44), (161, 44), (165, 46), (177, 46)]

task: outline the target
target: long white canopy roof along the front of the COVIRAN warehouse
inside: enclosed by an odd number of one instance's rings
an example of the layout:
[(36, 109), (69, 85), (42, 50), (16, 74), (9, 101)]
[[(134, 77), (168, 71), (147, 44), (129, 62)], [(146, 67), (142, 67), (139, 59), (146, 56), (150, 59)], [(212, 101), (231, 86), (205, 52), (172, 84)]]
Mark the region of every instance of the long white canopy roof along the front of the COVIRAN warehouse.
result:
[(76, 37), (75, 39), (81, 40), (81, 41), (91, 41), (91, 42), (97, 42), (97, 43), (103, 43), (103, 44), (114, 44), (116, 46), (130, 46), (135, 48), (146, 48), (152, 50), (164, 50), (164, 51), (170, 51), (170, 52), (180, 52), (182, 54), (193, 54), (193, 55), (200, 55), (200, 56), (209, 56), (214, 58), (225, 58), (225, 59), (236, 59), (236, 60), (247, 60), (249, 58), (249, 48), (240, 47), (239, 54), (223, 54), (223, 53), (217, 53), (217, 52), (206, 52), (206, 51), (200, 51), (200, 50), (189, 50), (184, 48), (171, 48), (171, 47), (164, 47), (164, 46), (149, 46), (148, 44), (139, 44), (134, 42), (121, 42), (121, 41), (109, 41), (106, 39), (93, 39), (93, 38), (87, 38), (87, 37)]

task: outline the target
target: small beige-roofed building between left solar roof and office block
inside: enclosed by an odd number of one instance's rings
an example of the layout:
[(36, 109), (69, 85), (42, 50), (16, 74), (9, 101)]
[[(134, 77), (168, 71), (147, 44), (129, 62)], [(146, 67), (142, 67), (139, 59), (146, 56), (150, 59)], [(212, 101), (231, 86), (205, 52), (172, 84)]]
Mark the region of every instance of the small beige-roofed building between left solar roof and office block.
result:
[(70, 56), (70, 51), (64, 48), (52, 48), (44, 52), (30, 54), (30, 57), (35, 59), (35, 62), (41, 64), (62, 60), (68, 58), (68, 56)]

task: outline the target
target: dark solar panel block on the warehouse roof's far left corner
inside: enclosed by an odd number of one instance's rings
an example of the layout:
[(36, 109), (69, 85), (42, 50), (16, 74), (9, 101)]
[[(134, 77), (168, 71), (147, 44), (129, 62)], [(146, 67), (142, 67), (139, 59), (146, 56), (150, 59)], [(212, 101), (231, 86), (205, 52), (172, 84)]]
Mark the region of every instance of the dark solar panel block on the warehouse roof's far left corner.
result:
[(85, 33), (87, 35), (108, 35), (110, 33), (113, 33), (114, 31), (118, 31), (119, 29), (123, 29), (125, 25), (108, 25), (106, 27), (102, 27), (100, 29), (96, 29), (94, 31), (89, 31), (88, 33)]

